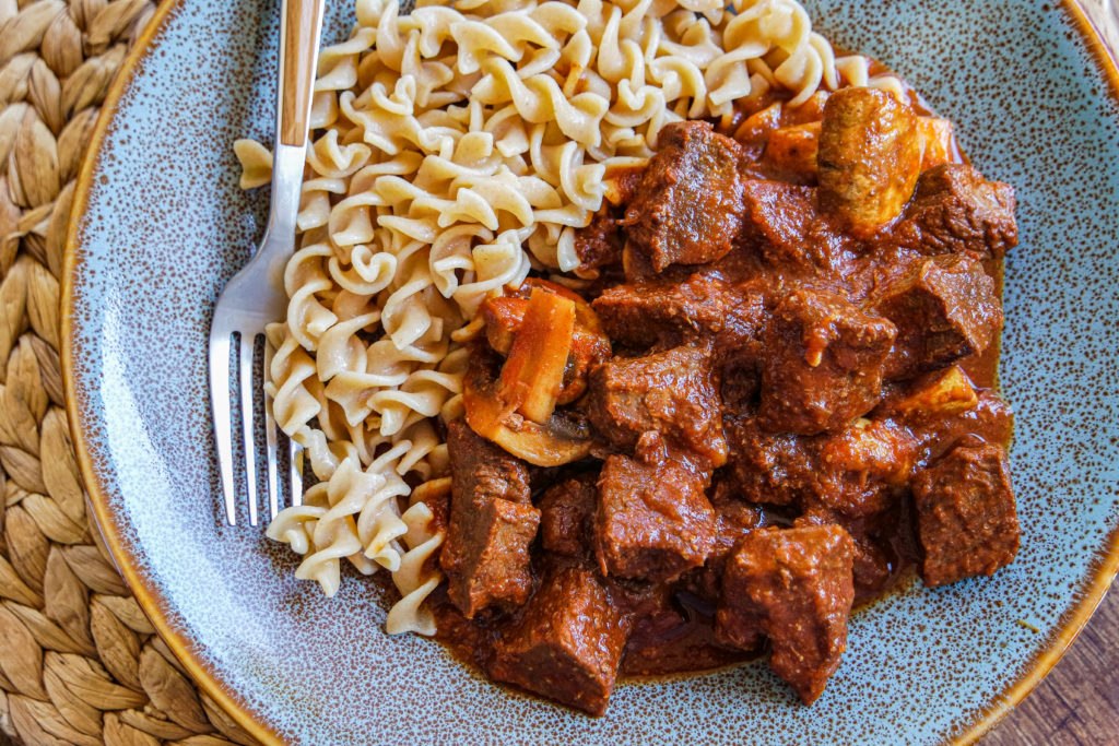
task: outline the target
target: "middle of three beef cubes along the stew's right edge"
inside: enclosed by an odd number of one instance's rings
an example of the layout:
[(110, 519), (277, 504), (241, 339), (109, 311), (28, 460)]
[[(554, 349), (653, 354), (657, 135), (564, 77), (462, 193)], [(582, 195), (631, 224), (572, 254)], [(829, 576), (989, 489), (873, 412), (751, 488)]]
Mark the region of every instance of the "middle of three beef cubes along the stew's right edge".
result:
[(888, 378), (909, 378), (978, 355), (1003, 328), (995, 281), (982, 264), (962, 255), (915, 263), (873, 305), (897, 327), (886, 361)]

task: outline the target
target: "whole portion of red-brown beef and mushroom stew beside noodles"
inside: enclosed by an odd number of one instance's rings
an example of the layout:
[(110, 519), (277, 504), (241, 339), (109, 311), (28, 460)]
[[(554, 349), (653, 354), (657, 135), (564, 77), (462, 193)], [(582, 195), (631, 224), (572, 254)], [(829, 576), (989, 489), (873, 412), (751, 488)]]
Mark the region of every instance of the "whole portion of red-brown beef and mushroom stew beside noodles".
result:
[(667, 125), (579, 282), (483, 304), (433, 598), (492, 679), (602, 715), (619, 674), (770, 651), (811, 703), (853, 604), (1014, 558), (1014, 191), (911, 98)]

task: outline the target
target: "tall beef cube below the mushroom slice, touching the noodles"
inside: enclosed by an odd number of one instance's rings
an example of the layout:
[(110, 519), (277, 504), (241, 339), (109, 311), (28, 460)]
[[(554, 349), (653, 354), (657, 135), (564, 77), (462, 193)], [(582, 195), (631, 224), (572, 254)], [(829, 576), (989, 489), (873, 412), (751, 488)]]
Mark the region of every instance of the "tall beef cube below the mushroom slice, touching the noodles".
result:
[(528, 468), (461, 421), (448, 425), (446, 445), (451, 516), (440, 565), (448, 595), (468, 618), (493, 604), (519, 606), (532, 593), (528, 548), (540, 520)]

